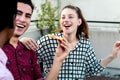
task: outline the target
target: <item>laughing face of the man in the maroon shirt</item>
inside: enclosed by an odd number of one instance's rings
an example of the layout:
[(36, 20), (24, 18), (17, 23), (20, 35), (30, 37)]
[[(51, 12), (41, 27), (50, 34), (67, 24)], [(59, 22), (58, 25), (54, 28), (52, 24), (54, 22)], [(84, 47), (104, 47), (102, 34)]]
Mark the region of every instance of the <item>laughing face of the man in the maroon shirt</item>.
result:
[(17, 15), (14, 36), (21, 36), (29, 27), (32, 16), (32, 8), (25, 3), (17, 3)]

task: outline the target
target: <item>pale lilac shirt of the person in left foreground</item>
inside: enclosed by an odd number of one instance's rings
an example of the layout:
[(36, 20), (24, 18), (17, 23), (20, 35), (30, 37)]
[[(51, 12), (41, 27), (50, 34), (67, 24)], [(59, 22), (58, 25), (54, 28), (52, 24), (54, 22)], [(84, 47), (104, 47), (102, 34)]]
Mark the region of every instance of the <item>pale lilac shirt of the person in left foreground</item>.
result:
[(11, 72), (6, 68), (7, 56), (0, 48), (0, 80), (14, 80)]

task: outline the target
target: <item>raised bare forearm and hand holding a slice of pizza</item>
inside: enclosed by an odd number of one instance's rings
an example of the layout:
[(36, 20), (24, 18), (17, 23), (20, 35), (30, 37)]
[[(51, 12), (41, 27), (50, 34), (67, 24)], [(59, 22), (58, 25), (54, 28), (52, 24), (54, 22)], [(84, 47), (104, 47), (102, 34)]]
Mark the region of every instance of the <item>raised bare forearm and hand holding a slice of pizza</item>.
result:
[(69, 52), (69, 43), (66, 40), (58, 40), (58, 47), (54, 56), (53, 65), (45, 80), (57, 80), (57, 76), (63, 64), (63, 61), (68, 56)]

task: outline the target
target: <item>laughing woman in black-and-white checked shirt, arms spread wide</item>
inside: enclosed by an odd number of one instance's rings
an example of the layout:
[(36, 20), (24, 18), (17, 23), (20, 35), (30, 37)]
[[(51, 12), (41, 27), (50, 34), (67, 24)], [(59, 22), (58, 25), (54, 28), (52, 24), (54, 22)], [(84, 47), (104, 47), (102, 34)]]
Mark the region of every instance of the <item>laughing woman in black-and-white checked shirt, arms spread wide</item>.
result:
[[(81, 10), (72, 5), (65, 6), (60, 15), (60, 32), (54, 35), (64, 37), (69, 43), (71, 50), (69, 56), (64, 60), (57, 80), (84, 80), (85, 76), (94, 76), (104, 70), (120, 51), (120, 43), (116, 42), (112, 54), (105, 59), (97, 60), (92, 44), (89, 40), (88, 25)], [(26, 47), (30, 48), (37, 45), (30, 38), (22, 40)], [(58, 46), (57, 40), (45, 35), (37, 43), (39, 62), (43, 62), (43, 68), (46, 73), (49, 72), (53, 63), (53, 57)], [(33, 49), (31, 47), (31, 49)]]

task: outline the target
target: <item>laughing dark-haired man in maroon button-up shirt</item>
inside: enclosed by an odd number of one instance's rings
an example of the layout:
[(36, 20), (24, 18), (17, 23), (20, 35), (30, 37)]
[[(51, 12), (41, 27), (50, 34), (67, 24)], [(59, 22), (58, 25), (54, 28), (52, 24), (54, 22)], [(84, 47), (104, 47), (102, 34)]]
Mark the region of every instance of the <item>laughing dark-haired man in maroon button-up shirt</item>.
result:
[[(35, 52), (28, 50), (19, 37), (28, 29), (34, 6), (31, 0), (18, 0), (15, 31), (3, 50), (8, 57), (7, 67), (15, 80), (42, 80), (39, 64)], [(60, 45), (54, 57), (54, 63), (46, 80), (55, 80), (59, 73), (63, 60), (68, 55), (67, 43), (58, 41)], [(63, 49), (64, 48), (64, 49)], [(61, 54), (62, 53), (62, 54)]]

